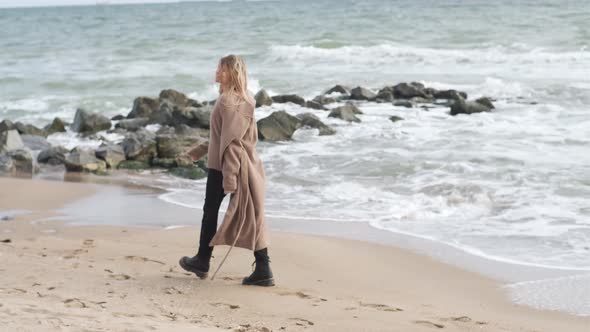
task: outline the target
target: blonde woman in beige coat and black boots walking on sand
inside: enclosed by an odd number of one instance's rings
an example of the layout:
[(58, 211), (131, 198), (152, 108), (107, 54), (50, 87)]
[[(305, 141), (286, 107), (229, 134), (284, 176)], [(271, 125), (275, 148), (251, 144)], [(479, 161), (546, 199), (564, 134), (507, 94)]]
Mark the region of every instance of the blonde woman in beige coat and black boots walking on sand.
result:
[[(205, 279), (213, 246), (236, 246), (253, 250), (256, 260), (254, 272), (244, 278), (242, 284), (274, 286), (264, 219), (266, 178), (262, 161), (256, 153), (256, 102), (248, 91), (246, 65), (242, 58), (235, 55), (223, 57), (215, 81), (220, 84), (220, 94), (211, 112), (209, 142), (187, 153), (193, 161), (205, 153), (208, 156), (209, 174), (199, 250), (192, 258), (182, 257), (180, 266)], [(219, 206), (227, 194), (231, 194), (229, 206), (217, 231)]]

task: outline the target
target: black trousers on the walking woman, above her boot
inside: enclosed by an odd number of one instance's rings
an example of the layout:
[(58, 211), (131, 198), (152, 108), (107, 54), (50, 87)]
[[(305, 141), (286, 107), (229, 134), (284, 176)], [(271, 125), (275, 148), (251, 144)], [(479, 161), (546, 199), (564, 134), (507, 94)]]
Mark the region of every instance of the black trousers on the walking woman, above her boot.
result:
[(210, 259), (213, 247), (209, 242), (217, 233), (217, 216), (219, 207), (225, 197), (223, 192), (223, 174), (216, 169), (209, 169), (207, 175), (207, 186), (205, 189), (205, 204), (203, 205), (203, 220), (201, 221), (201, 237), (199, 239), (199, 252), (197, 256), (203, 259)]

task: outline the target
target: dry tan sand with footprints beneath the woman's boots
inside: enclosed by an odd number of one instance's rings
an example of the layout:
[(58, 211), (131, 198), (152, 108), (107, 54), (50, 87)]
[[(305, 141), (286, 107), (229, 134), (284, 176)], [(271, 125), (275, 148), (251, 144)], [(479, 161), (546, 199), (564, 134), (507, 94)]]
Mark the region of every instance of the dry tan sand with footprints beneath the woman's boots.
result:
[[(245, 287), (232, 252), (216, 280), (177, 265), (186, 228), (66, 226), (56, 213), (105, 185), (0, 179), (6, 331), (587, 331), (590, 318), (512, 304), (499, 281), (368, 242), (272, 232), (277, 286)], [(75, 220), (67, 220), (69, 223)], [(216, 267), (226, 248), (214, 252)]]

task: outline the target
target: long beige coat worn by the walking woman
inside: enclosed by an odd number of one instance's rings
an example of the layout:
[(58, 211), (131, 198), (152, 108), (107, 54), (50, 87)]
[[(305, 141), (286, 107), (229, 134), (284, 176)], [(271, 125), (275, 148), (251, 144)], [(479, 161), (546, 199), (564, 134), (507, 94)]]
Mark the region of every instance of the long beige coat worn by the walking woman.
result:
[(193, 158), (200, 158), (207, 150), (208, 167), (222, 171), (223, 189), (231, 193), (223, 222), (210, 246), (260, 250), (269, 244), (264, 217), (266, 176), (256, 153), (254, 108), (236, 96), (220, 95), (211, 112), (208, 145), (189, 151)]

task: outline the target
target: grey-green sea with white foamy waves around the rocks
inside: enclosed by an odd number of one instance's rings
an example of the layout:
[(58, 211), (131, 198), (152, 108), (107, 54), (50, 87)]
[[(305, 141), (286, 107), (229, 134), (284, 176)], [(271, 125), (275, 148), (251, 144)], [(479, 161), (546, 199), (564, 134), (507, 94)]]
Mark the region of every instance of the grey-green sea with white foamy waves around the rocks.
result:
[[(80, 107), (127, 114), (135, 97), (167, 88), (212, 100), (218, 60), (230, 53), (245, 59), (254, 93), (312, 99), (335, 84), (377, 91), (416, 81), (495, 100), (493, 112), (470, 116), (367, 102), (352, 124), (293, 104), (258, 108), (257, 119), (312, 112), (337, 131), (259, 142), (269, 217), (365, 223), (590, 283), (590, 1), (5, 8), (0, 119), (42, 126)], [(49, 141), (100, 144), (72, 132)], [(150, 181), (170, 204), (203, 205), (205, 180)], [(590, 315), (584, 294), (565, 310)]]

